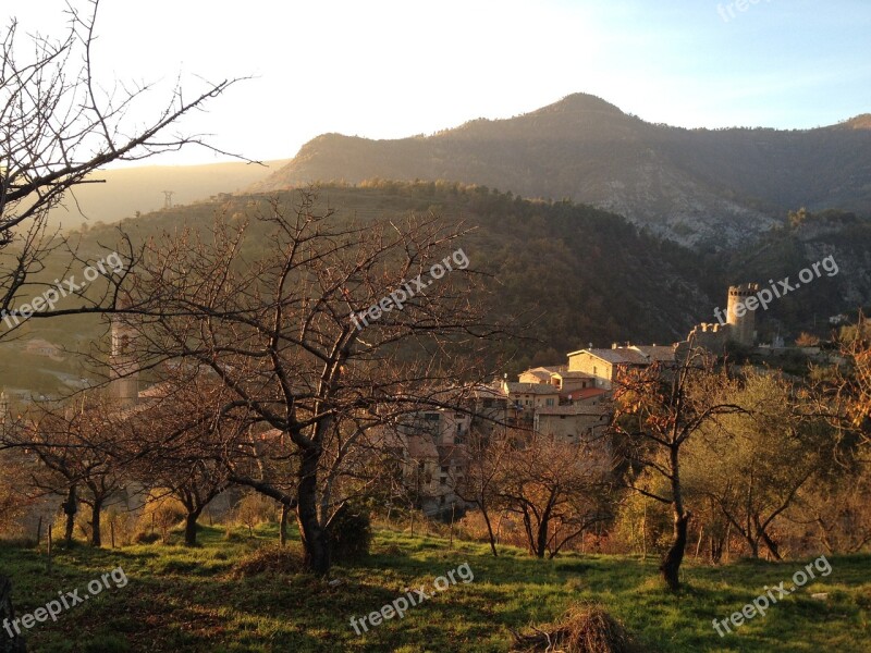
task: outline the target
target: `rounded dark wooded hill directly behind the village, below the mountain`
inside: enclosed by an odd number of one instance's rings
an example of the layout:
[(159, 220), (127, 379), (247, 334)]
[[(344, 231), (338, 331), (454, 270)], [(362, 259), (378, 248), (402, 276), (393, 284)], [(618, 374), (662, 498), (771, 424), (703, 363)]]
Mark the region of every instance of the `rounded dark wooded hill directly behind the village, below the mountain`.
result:
[[(116, 226), (140, 242), (182, 224), (208, 227), (217, 214), (233, 219), (258, 208), (268, 210), (269, 199), (267, 195), (224, 196), (127, 218), (116, 225), (90, 226), (76, 237), (81, 237), (82, 252), (96, 258), (98, 243), (111, 246), (118, 241)], [(295, 201), (296, 194), (289, 193), (284, 199)], [(318, 208), (328, 206), (336, 209), (338, 221), (367, 223), (431, 211), (475, 227), (462, 246), (471, 266), (490, 275), (490, 292), (481, 300), (493, 318), (523, 316), (524, 335), (531, 338), (523, 344), (502, 343), (493, 352), (515, 357), (513, 367), (518, 371), (531, 360), (562, 358), (590, 342), (610, 346), (612, 340), (679, 340), (698, 317), (710, 311), (717, 291), (714, 274), (699, 273), (704, 263), (698, 255), (591, 207), (532, 202), (458, 184), (391, 182), (361, 188), (324, 187)], [(257, 226), (252, 230), (245, 245), (252, 256), (266, 237)], [(42, 276), (50, 280), (62, 274), (59, 264), (60, 260), (50, 261)], [(49, 358), (42, 366), (30, 361), (27, 374), (15, 373), (19, 358), (13, 353), (23, 343), (45, 338), (76, 349), (89, 340), (99, 342), (105, 332), (105, 323), (96, 317), (77, 318), (75, 325), (66, 319), (29, 320), (15, 332), (17, 341), (0, 343), (0, 353), (9, 353), (3, 370), (10, 380), (8, 393), (21, 394), (29, 386), (50, 394), (60, 378), (53, 372), (58, 364)], [(34, 383), (35, 374), (38, 383)], [(27, 384), (20, 386), (12, 379), (26, 379)]]

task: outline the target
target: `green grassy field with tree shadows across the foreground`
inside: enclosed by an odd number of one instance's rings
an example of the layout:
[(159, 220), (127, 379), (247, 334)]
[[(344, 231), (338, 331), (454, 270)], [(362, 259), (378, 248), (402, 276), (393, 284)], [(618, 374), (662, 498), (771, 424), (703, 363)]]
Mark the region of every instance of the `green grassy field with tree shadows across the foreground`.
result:
[[(565, 555), (537, 560), (507, 550), (500, 558), (484, 546), (389, 530), (377, 532), (373, 554), (336, 566), (328, 583), (268, 570), (240, 575), (240, 564), (270, 546), (274, 527), (255, 537), (204, 527), (197, 549), (150, 544), (59, 552), (46, 574), (45, 554), (3, 545), (0, 570), (13, 579), (17, 616), (81, 588), (121, 566), (125, 587), (111, 587), (71, 607), (57, 623), (36, 624), (28, 643), (36, 652), (122, 651), (507, 651), (510, 628), (557, 618), (573, 602), (602, 604), (649, 651), (871, 651), (871, 556), (830, 558), (832, 574), (811, 581), (720, 638), (712, 619), (739, 611), (763, 586), (790, 582), (799, 562), (740, 562), (684, 571), (686, 588), (663, 591), (653, 558)], [(298, 546), (297, 544), (293, 545)], [(357, 636), (360, 617), (467, 563), (474, 580), (457, 578), (442, 592)], [(456, 576), (455, 576), (456, 578)], [(812, 599), (826, 592), (827, 599)], [(2, 632), (2, 631), (0, 631)]]

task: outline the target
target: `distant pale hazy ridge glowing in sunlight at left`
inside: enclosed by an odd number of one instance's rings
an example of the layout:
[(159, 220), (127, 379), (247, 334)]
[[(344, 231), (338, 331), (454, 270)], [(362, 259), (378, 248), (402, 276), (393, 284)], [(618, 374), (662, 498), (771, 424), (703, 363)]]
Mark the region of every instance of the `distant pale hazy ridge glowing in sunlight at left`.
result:
[(245, 188), (286, 164), (287, 160), (205, 165), (144, 165), (101, 170), (89, 178), (101, 183), (82, 184), (62, 206), (49, 213), (49, 221), (64, 230), (95, 222), (118, 222), (136, 212), (161, 208), (164, 190), (172, 190), (173, 205), (186, 205), (219, 193)]

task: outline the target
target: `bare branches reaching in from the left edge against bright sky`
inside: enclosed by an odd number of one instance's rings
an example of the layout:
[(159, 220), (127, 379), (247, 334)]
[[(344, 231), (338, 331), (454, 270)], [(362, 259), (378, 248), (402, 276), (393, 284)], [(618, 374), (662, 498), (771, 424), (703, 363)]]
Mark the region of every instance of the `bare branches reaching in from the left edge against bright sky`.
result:
[[(106, 85), (95, 77), (98, 9), (99, 0), (71, 2), (60, 38), (21, 35), (13, 19), (0, 40), (0, 250), (14, 245), (8, 259), (0, 261), (3, 316), (29, 317), (15, 308), (16, 298), (35, 283), (30, 278), (45, 268), (49, 255), (70, 249), (47, 230), (49, 210), (74, 202), (75, 187), (99, 182), (95, 173), (109, 163), (146, 159), (186, 145), (216, 150), (201, 135), (168, 132), (238, 81), (205, 83), (194, 94), (188, 89), (187, 98), (177, 84), (162, 110), (143, 120), (139, 107), (152, 101), (155, 85)], [(113, 306), (111, 294), (89, 310)], [(66, 312), (82, 308), (51, 306), (33, 315)]]

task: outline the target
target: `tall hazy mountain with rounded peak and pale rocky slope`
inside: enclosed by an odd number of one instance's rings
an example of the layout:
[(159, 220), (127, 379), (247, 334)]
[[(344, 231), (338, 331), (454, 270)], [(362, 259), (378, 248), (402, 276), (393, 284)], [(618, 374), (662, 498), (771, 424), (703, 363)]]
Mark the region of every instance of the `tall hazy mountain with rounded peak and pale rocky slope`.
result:
[(432, 136), (324, 134), (254, 189), (376, 177), (568, 198), (698, 250), (717, 250), (755, 241), (799, 207), (871, 213), (871, 115), (806, 131), (685, 130), (576, 94)]

